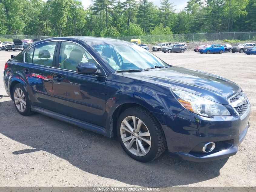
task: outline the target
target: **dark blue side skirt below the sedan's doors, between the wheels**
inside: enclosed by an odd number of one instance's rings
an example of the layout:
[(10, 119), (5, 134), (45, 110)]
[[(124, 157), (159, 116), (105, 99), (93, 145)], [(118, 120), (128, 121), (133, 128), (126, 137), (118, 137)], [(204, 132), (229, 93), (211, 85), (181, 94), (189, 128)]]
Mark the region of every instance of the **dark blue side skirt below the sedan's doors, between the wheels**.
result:
[(56, 113), (56, 112), (50, 111), (48, 109), (44, 109), (42, 107), (31, 106), (31, 109), (32, 109), (32, 111), (35, 111), (37, 113), (41, 113), (43, 115), (47, 115), (49, 117), (52, 117), (52, 118), (55, 118), (55, 119), (58, 119), (61, 121), (65, 121), (67, 123), (71, 123), (75, 126), (99, 133), (106, 137), (111, 137), (111, 135), (112, 135), (111, 132), (109, 130), (107, 130), (106, 128), (92, 124), (92, 123), (88, 123), (88, 122), (81, 121), (81, 120), (78, 120), (78, 119), (75, 119), (75, 118), (72, 118), (72, 117), (69, 117), (66, 115), (62, 115), (60, 113)]

